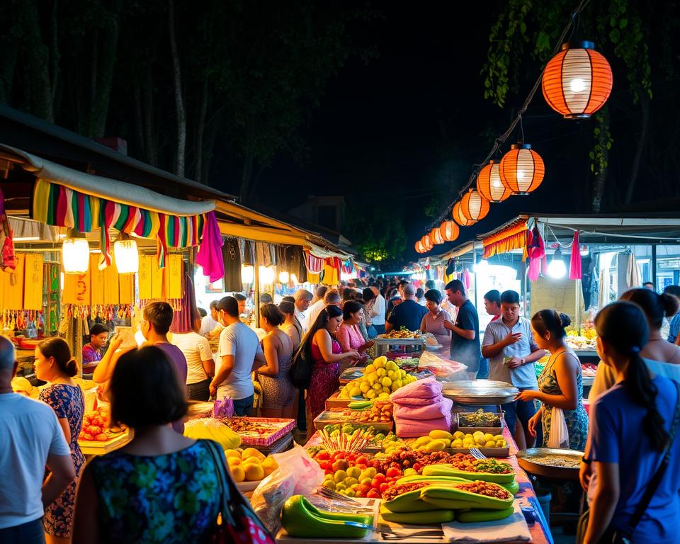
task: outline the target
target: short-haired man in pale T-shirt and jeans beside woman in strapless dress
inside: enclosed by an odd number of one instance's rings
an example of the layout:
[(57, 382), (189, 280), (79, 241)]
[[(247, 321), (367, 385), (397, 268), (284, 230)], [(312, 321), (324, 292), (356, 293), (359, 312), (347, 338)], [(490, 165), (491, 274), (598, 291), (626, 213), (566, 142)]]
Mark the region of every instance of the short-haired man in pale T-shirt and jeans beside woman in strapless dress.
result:
[(257, 335), (239, 320), (239, 303), (234, 297), (224, 297), (217, 305), (225, 329), (220, 333), (220, 348), (215, 378), (210, 382), (210, 394), (217, 400), (234, 400), (234, 414), (249, 416), (253, 410), (255, 390), (251, 373), (266, 364)]

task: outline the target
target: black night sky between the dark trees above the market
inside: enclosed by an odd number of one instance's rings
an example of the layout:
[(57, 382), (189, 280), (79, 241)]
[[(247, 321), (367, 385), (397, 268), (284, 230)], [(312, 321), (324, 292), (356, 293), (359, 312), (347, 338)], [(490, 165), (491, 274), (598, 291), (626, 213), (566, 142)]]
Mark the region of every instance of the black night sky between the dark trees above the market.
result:
[[(310, 194), (387, 198), (407, 229), (407, 258), (416, 257), (413, 242), (432, 222), (423, 211), (432, 193), (427, 185), (442, 175), (455, 186), (463, 185), (472, 165), (491, 147), (484, 132), (504, 132), (511, 107), (521, 104), (531, 86), (523, 86), (521, 96), (511, 98), (504, 109), (483, 98), (480, 70), (487, 54), (489, 13), (496, 10), (492, 3), (473, 2), (461, 13), (460, 5), (430, 3), (417, 10), (402, 3), (376, 5), (384, 18), (371, 23), (358, 39), (376, 45), (380, 56), (368, 64), (351, 60), (329, 81), (305, 133), (309, 162), (277, 160), (263, 174), (263, 203), (286, 209)], [(531, 78), (538, 77), (540, 67), (531, 69)], [(543, 186), (532, 196), (492, 205), (485, 220), (461, 229), (458, 241), (437, 246), (436, 253), (522, 211), (573, 212), (584, 206), (586, 199), (570, 193), (567, 176), (589, 174), (588, 149), (574, 148), (578, 126), (551, 112), (539, 89), (524, 130), (526, 141), (545, 161)], [(551, 156), (551, 149), (563, 149), (565, 143), (573, 160), (570, 154)], [(556, 171), (559, 178), (550, 176)], [(442, 200), (442, 210), (447, 203)]]

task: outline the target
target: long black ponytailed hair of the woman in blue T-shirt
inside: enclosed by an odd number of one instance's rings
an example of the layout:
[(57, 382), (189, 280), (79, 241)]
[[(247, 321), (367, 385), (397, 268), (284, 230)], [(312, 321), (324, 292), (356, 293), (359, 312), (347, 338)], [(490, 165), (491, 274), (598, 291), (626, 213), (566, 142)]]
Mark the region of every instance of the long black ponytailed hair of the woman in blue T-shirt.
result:
[(657, 386), (650, 378), (640, 351), (650, 339), (647, 317), (640, 307), (632, 302), (612, 302), (595, 317), (597, 335), (610, 344), (622, 357), (628, 358), (623, 385), (630, 399), (647, 409), (642, 427), (650, 437), (652, 447), (663, 451), (669, 435), (664, 429), (664, 419), (657, 409)]

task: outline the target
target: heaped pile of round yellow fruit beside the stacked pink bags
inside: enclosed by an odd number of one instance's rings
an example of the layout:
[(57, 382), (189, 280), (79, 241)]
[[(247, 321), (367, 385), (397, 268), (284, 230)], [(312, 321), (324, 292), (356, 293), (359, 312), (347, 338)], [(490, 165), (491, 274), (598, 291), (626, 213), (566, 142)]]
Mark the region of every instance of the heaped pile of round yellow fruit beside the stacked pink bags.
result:
[(387, 361), (385, 356), (377, 357), (370, 365), (363, 369), (363, 377), (353, 380), (339, 392), (340, 399), (384, 399), (390, 398), (390, 394), (416, 381), (416, 378), (407, 374), (406, 370), (399, 368), (395, 361)]

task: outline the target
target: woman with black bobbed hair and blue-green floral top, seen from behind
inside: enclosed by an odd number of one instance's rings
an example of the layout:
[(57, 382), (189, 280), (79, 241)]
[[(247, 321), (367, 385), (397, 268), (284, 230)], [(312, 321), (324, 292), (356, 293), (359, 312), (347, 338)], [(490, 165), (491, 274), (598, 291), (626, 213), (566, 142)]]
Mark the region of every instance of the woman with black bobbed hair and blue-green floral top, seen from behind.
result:
[(207, 441), (172, 429), (186, 409), (176, 370), (161, 348), (120, 357), (111, 377), (111, 417), (134, 429), (135, 437), (85, 467), (75, 544), (210, 541), (221, 502), (217, 467), (208, 461)]

